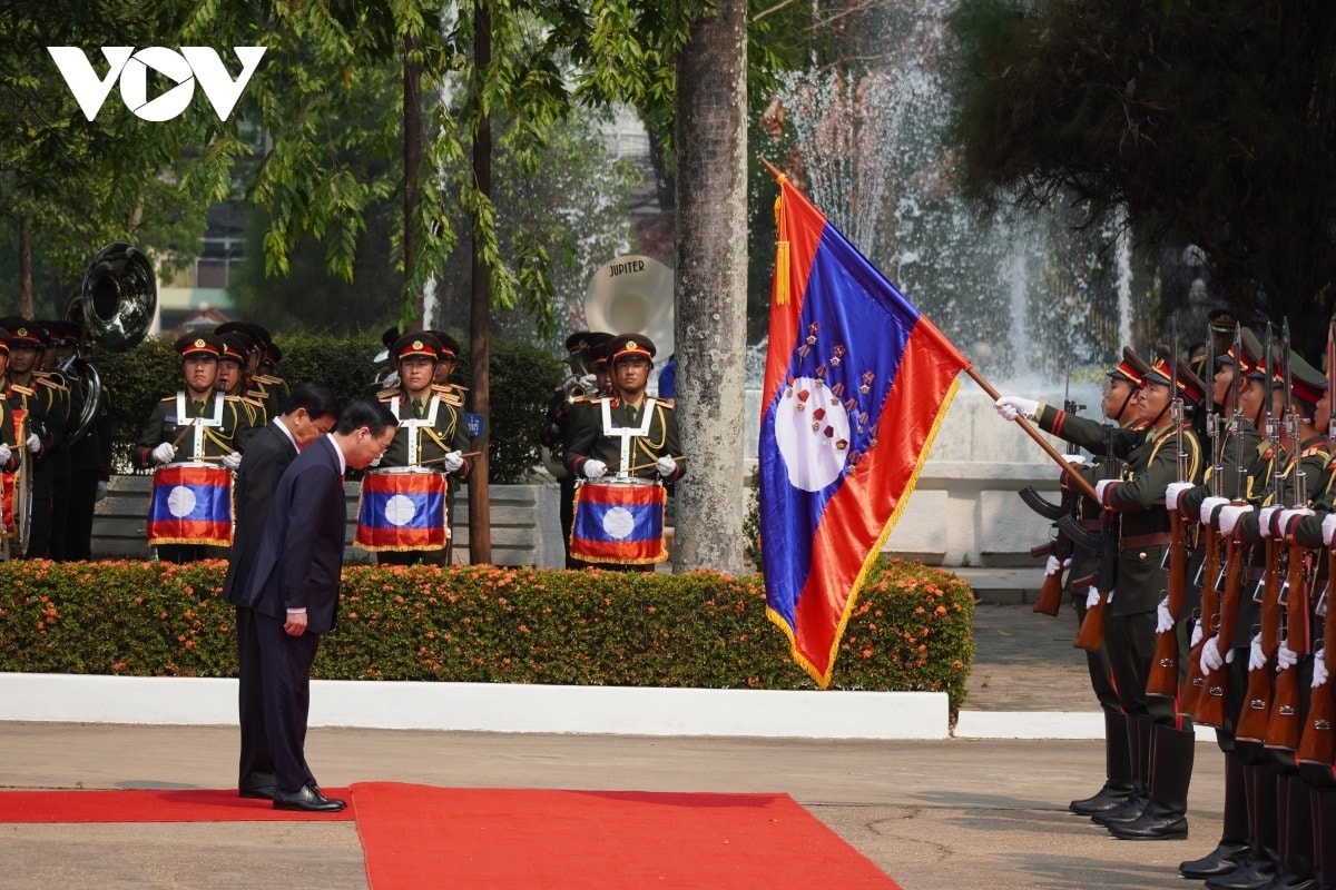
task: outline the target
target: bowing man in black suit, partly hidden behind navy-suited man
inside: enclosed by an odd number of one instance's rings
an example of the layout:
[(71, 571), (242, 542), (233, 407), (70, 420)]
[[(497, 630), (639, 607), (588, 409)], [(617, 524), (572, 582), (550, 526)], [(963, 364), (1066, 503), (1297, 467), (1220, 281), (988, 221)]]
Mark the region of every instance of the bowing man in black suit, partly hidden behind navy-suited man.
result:
[(236, 606), (236, 660), (239, 664), (238, 711), (242, 729), (242, 755), (238, 793), (243, 798), (274, 797), (274, 758), (265, 734), (263, 671), (255, 610), (243, 604), (246, 580), (259, 552), (269, 519), (269, 507), (278, 480), (297, 454), (338, 422), (338, 402), (329, 387), (303, 383), (287, 396), (282, 415), (257, 431), (246, 446), (236, 471), (232, 496), (236, 502), (236, 528), (223, 582), (223, 598)]

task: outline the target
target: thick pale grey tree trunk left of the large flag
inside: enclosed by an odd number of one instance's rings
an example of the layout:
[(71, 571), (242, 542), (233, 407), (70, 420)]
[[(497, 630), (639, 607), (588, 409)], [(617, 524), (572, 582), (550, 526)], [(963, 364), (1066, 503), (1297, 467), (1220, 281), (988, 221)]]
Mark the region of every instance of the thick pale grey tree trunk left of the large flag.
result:
[[(743, 570), (747, 3), (720, 0), (677, 61), (677, 571)], [(667, 356), (663, 356), (667, 358)]]

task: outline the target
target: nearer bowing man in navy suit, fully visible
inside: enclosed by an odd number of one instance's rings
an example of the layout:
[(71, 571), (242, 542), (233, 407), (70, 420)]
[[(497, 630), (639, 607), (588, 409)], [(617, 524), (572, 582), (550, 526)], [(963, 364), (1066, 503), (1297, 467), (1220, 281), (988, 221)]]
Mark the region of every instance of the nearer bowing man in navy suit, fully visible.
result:
[(397, 423), (379, 402), (354, 399), (334, 432), (302, 451), (274, 491), (243, 604), (257, 612), (275, 810), (335, 813), (345, 806), (321, 794), (306, 765), (311, 663), (338, 615), (347, 526), (343, 474), (385, 454)]

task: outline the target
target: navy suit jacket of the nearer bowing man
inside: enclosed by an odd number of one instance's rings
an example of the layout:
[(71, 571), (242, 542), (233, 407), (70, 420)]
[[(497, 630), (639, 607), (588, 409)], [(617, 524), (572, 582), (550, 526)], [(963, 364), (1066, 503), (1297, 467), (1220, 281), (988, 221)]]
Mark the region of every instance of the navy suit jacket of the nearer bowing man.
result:
[(306, 608), (310, 634), (327, 634), (338, 614), (347, 502), (335, 448), (321, 436), (283, 472), (242, 598), (281, 620)]

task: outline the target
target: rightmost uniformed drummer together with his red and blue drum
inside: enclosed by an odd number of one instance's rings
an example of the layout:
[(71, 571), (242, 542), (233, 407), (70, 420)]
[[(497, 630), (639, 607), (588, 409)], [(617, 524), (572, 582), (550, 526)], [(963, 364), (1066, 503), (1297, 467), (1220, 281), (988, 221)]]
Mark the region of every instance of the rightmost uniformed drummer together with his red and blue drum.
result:
[(655, 344), (617, 334), (607, 346), (616, 395), (588, 402), (572, 418), (565, 464), (581, 480), (572, 556), (601, 567), (653, 571), (664, 562), (665, 484), (687, 468), (669, 404), (645, 395)]

